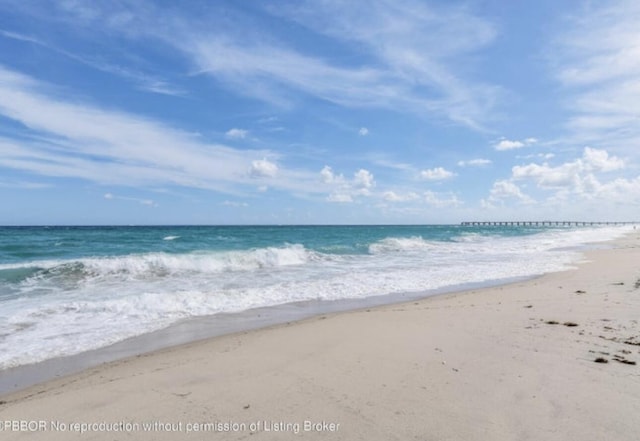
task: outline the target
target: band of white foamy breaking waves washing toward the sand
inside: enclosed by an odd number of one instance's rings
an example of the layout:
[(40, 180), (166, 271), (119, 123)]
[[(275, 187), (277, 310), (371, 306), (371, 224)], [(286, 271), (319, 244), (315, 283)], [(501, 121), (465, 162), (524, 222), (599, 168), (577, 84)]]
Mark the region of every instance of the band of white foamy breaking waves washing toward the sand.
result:
[(580, 259), (576, 247), (624, 231), (461, 230), (436, 239), (426, 229), (423, 235), (392, 231), (368, 244), (316, 238), (313, 249), (291, 243), (3, 263), (0, 368), (103, 347), (190, 317), (306, 300), (426, 295), (558, 271)]

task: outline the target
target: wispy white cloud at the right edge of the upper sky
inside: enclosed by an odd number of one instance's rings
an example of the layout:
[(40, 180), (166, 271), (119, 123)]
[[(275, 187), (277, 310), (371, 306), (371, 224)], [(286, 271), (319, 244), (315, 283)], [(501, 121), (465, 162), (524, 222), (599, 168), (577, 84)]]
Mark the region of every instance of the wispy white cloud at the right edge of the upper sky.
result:
[(576, 143), (631, 154), (640, 142), (640, 3), (589, 3), (550, 47)]

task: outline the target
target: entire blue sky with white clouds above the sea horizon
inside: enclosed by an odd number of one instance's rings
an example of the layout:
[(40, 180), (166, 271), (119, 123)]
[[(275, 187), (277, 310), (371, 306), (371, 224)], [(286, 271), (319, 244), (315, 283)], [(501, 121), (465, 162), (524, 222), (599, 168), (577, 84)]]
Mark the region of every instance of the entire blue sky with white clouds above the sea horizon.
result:
[(0, 0), (0, 224), (640, 219), (640, 3)]

